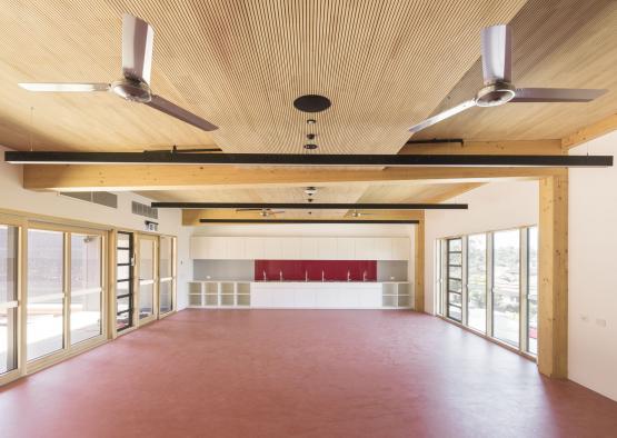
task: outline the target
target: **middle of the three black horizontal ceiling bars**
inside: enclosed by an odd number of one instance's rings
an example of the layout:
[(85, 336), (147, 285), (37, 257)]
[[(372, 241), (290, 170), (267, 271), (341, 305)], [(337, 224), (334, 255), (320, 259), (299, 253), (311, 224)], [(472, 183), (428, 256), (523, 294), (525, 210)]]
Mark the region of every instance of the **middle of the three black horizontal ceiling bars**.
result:
[(152, 202), (152, 208), (226, 209), (285, 208), (288, 210), (467, 210), (467, 203), (318, 203), (318, 202)]

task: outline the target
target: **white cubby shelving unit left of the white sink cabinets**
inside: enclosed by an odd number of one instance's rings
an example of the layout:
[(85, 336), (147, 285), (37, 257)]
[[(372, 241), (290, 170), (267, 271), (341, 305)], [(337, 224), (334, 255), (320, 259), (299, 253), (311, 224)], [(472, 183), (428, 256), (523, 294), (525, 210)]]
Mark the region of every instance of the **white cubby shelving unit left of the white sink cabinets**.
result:
[(189, 281), (189, 307), (249, 307), (248, 281)]

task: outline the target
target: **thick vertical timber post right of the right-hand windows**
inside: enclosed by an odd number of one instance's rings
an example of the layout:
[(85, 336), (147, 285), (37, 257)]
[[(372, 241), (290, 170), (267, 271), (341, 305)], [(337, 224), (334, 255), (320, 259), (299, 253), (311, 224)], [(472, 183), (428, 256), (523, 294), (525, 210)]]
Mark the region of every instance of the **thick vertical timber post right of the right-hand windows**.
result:
[(568, 377), (568, 173), (539, 181), (538, 369)]

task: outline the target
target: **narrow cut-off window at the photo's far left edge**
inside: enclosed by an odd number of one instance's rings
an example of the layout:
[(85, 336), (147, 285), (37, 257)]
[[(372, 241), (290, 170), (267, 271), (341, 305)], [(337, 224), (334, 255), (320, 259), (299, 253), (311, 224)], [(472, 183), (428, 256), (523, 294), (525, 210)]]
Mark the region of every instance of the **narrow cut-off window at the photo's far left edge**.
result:
[(0, 375), (17, 368), (18, 228), (0, 225)]

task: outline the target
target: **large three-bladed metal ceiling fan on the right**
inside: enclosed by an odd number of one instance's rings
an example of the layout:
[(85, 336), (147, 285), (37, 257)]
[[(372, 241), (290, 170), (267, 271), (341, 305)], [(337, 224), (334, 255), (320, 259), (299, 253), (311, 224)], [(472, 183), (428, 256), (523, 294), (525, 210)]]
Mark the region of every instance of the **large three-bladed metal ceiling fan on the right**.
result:
[(516, 88), (511, 83), (511, 31), (507, 24), (481, 31), (485, 86), (474, 99), (432, 116), (409, 128), (418, 132), (472, 107), (497, 107), (507, 102), (589, 102), (607, 90), (575, 88)]

